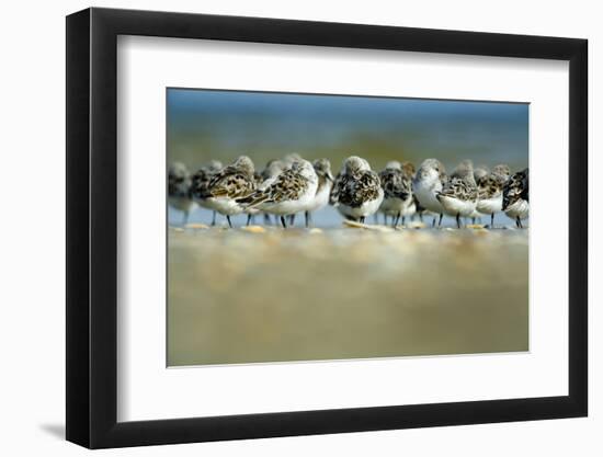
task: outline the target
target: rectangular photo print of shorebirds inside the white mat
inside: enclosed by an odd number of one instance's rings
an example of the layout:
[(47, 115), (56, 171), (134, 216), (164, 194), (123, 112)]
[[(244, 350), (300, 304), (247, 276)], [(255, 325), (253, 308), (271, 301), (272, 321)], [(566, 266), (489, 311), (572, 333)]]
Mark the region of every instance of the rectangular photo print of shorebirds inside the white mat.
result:
[(528, 104), (166, 96), (168, 366), (530, 350)]

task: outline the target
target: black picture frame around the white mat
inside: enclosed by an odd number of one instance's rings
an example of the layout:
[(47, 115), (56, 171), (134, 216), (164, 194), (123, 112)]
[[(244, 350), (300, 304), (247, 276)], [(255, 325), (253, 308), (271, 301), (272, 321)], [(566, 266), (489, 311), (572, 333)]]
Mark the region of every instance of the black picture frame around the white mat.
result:
[[(569, 395), (117, 422), (118, 35), (569, 61)], [(66, 61), (68, 441), (103, 448), (587, 415), (585, 39), (92, 8), (67, 16)]]

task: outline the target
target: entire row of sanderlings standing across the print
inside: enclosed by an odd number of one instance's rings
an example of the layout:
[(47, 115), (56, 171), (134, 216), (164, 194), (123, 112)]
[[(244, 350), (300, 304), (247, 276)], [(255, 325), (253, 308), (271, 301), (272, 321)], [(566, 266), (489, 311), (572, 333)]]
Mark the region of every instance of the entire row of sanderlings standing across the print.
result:
[(283, 228), (295, 224), (297, 214), (305, 215), (306, 227), (311, 225), (314, 212), (332, 205), (348, 220), (365, 222), (369, 216), (378, 221), (383, 215), (397, 227), (407, 218), (433, 216), (432, 227), (442, 225), (444, 215), (454, 217), (458, 228), (470, 219), (474, 224), (504, 213), (523, 228), (528, 217), (528, 169), (511, 173), (505, 164), (474, 168), (470, 160), (462, 161), (447, 174), (437, 159), (424, 160), (419, 169), (411, 162), (388, 162), (379, 173), (371, 169), (366, 159), (351, 156), (333, 176), (328, 159), (314, 162), (298, 155), (270, 160), (262, 171), (253, 161), (240, 156), (224, 167), (212, 160), (191, 173), (182, 162), (173, 162), (168, 172), (169, 204), (183, 212), (183, 225), (197, 207), (226, 216), (247, 214), (247, 225), (263, 215), (264, 224), (271, 216), (280, 219)]

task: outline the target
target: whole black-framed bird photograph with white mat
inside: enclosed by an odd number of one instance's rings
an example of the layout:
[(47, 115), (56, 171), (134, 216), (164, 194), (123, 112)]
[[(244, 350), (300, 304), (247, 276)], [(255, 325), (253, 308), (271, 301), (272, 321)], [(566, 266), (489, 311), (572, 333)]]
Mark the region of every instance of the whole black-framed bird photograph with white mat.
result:
[(67, 439), (584, 416), (584, 39), (67, 18)]

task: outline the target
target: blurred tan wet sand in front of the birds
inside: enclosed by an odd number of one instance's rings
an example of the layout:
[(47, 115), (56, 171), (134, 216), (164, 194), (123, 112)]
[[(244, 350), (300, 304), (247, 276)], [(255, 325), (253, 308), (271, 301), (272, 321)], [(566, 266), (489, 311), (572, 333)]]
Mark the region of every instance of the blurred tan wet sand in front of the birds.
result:
[(528, 350), (528, 230), (168, 230), (168, 365)]

